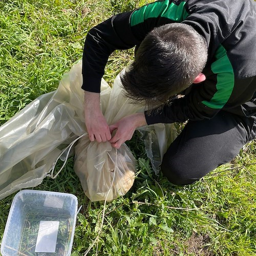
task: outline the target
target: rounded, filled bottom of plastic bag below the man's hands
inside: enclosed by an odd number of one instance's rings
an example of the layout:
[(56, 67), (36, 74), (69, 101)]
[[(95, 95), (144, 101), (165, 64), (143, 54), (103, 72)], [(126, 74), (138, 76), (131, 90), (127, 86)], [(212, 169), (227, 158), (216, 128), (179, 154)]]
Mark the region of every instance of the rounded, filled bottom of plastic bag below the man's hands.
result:
[(134, 183), (135, 166), (136, 160), (125, 144), (115, 150), (109, 142), (91, 142), (87, 136), (75, 147), (74, 169), (91, 201), (124, 196)]

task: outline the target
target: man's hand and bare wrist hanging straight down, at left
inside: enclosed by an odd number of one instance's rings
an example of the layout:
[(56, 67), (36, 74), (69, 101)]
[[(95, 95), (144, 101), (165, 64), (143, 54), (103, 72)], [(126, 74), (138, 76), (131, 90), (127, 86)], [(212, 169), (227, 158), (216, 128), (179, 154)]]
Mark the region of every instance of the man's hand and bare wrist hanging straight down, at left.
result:
[(110, 127), (100, 109), (99, 93), (84, 91), (84, 118), (91, 141), (111, 139)]

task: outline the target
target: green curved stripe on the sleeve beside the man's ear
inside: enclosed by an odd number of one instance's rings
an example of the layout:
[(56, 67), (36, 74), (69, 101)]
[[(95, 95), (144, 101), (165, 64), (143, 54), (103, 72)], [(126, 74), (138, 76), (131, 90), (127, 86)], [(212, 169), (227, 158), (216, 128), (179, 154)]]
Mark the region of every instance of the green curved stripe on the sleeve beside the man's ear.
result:
[(217, 92), (210, 101), (204, 100), (202, 103), (211, 109), (222, 109), (233, 91), (234, 72), (227, 51), (223, 46), (217, 49), (215, 57), (217, 60), (211, 64), (211, 70), (217, 74)]

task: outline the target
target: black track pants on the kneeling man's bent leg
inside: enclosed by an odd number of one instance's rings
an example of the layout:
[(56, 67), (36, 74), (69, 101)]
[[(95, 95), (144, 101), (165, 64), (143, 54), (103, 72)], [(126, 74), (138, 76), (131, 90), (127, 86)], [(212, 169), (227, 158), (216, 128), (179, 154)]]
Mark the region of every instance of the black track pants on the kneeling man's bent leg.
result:
[(193, 183), (231, 161), (254, 138), (256, 117), (221, 111), (209, 120), (188, 121), (165, 153), (161, 171), (174, 184)]

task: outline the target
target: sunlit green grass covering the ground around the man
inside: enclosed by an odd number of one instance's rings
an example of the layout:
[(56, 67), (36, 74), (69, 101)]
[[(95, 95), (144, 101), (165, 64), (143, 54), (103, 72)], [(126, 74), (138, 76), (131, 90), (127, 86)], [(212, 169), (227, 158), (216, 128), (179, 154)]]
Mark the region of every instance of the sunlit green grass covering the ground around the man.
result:
[[(18, 0), (0, 2), (0, 124), (41, 94), (53, 91), (82, 57), (88, 30), (144, 1)], [(133, 51), (112, 54), (110, 84)], [(107, 204), (99, 241), (89, 255), (256, 255), (255, 142), (231, 163), (184, 187), (156, 176), (135, 135), (127, 143), (139, 174), (124, 197)], [(61, 163), (59, 163), (61, 165)], [(72, 255), (97, 237), (102, 202), (84, 196), (73, 158), (34, 189), (72, 193), (79, 206)], [(0, 241), (14, 194), (0, 201)]]

